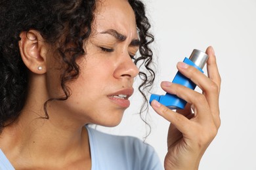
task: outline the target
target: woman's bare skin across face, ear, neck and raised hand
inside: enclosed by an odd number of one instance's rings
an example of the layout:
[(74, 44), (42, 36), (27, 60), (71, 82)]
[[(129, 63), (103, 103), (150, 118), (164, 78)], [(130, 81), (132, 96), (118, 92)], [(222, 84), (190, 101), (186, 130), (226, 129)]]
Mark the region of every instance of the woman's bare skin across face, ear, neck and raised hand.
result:
[[(85, 42), (87, 55), (77, 59), (80, 75), (67, 84), (72, 95), (47, 105), (49, 120), (39, 117), (45, 116), (47, 99), (64, 95), (59, 86), (62, 65), (37, 31), (22, 32), (20, 37), (20, 54), (30, 74), (29, 92), (18, 120), (1, 134), (1, 149), (16, 169), (91, 169), (83, 126), (119, 124), (129, 101), (113, 95), (131, 95), (139, 73), (132, 59), (139, 48), (133, 10), (126, 0), (104, 0), (96, 7), (93, 33)], [(188, 101), (185, 110), (177, 110), (178, 114), (152, 101), (154, 110), (171, 122), (165, 169), (198, 169), (220, 126), (221, 78), (213, 48), (206, 52), (208, 76), (194, 67), (177, 65), (203, 93), (169, 82), (161, 84), (166, 92)]]

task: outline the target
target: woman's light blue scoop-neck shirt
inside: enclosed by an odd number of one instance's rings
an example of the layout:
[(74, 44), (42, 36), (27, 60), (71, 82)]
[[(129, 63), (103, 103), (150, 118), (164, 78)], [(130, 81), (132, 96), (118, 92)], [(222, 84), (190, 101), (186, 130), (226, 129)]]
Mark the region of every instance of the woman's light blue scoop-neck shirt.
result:
[[(86, 126), (87, 127), (87, 126)], [(154, 148), (136, 137), (109, 135), (87, 127), (92, 170), (163, 169)], [(0, 149), (0, 169), (14, 169)]]

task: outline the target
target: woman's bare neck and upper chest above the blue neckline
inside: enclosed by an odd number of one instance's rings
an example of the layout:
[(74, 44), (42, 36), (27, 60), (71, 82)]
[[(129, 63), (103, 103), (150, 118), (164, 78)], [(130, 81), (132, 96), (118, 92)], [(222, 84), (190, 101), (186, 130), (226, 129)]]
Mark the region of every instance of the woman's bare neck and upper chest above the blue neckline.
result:
[[(47, 107), (49, 119), (45, 119), (43, 103), (47, 96), (28, 93), (26, 105), (11, 126), (0, 135), (0, 148), (14, 167), (65, 167), (89, 161), (89, 137), (84, 120), (72, 118), (72, 114), (54, 105)], [(33, 164), (33, 165), (32, 165)], [(88, 163), (87, 163), (88, 165)], [(32, 168), (33, 169), (33, 168)]]

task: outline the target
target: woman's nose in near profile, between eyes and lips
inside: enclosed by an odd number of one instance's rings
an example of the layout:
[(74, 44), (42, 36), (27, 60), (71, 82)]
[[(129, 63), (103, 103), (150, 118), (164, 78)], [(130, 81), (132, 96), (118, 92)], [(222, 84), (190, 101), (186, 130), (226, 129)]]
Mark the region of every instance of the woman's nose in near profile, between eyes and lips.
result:
[(119, 57), (118, 65), (114, 71), (116, 78), (135, 78), (139, 74), (139, 69), (129, 54), (123, 54)]

